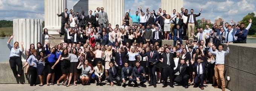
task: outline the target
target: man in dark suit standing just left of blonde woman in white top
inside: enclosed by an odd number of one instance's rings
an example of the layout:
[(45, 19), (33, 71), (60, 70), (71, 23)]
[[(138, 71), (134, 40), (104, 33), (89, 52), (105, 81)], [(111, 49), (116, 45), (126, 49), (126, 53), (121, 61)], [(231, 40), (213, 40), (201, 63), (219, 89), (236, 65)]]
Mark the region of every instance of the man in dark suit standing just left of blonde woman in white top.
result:
[[(115, 62), (116, 64), (120, 67), (120, 68), (123, 68), (125, 62), (126, 62), (126, 54), (128, 53), (127, 49), (124, 48), (124, 52), (122, 52), (122, 48), (118, 48), (117, 49), (117, 53), (114, 53), (114, 57), (115, 58)], [(117, 70), (119, 74), (121, 74), (121, 70)]]

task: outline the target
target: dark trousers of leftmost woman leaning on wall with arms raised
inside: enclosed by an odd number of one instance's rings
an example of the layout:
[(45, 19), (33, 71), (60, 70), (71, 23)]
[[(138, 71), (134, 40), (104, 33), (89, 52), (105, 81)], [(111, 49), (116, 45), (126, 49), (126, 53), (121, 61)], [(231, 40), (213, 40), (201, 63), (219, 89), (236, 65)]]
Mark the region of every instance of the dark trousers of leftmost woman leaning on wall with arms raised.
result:
[[(22, 62), (20, 57), (10, 57), (9, 63), (10, 63), (13, 75), (14, 76), (17, 76), (18, 74), (21, 75)], [(18, 66), (18, 71), (17, 71), (16, 65)]]

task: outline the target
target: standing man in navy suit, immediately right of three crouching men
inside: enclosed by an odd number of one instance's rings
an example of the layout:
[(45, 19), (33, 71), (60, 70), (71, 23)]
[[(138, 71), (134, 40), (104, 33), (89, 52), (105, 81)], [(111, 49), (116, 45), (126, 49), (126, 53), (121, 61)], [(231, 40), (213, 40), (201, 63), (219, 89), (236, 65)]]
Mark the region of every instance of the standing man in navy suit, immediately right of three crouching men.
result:
[(150, 45), (150, 50), (147, 54), (148, 57), (148, 62), (147, 62), (147, 66), (148, 66), (148, 72), (150, 75), (150, 82), (148, 86), (152, 86), (154, 85), (154, 88), (157, 87), (157, 81), (156, 81), (156, 77), (155, 77), (155, 69), (156, 69), (156, 64), (159, 62), (159, 54), (157, 52), (157, 50), (155, 50), (153, 45)]

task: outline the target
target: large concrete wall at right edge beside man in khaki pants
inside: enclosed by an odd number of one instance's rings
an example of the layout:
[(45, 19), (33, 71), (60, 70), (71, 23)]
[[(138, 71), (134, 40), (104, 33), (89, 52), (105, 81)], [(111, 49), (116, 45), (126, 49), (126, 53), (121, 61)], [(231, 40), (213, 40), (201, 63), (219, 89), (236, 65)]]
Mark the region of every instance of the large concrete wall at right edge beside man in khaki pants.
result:
[(230, 81), (225, 81), (226, 88), (232, 91), (256, 90), (256, 44), (230, 44), (229, 47), (224, 75), (225, 80), (230, 76)]

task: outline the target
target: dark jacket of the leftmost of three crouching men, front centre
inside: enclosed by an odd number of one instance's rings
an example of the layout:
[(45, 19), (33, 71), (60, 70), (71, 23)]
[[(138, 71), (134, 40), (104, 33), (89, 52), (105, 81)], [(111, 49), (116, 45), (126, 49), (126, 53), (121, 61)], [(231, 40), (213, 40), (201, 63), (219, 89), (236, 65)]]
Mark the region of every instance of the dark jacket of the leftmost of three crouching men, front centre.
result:
[(119, 76), (117, 70), (120, 70), (120, 69), (121, 68), (119, 66), (113, 66), (114, 71), (112, 70), (112, 68), (108, 69), (108, 75), (109, 75), (110, 82), (113, 82), (113, 78), (116, 78), (117, 76)]

